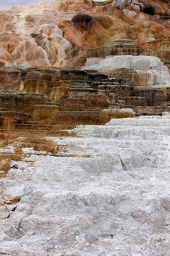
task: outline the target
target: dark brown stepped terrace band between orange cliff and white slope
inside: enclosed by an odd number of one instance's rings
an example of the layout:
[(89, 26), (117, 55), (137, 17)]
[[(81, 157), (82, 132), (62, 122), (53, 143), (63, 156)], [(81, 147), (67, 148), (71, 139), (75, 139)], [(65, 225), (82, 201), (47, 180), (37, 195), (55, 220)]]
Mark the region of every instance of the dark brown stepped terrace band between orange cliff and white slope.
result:
[[(128, 64), (129, 57), (127, 55)], [(141, 63), (143, 66), (149, 63), (154, 69), (166, 69), (158, 58), (150, 57), (150, 62), (149, 59), (137, 61), (140, 62), (139, 67)], [(137, 66), (137, 61), (133, 65)], [(166, 90), (144, 87), (146, 77), (142, 81), (137, 71), (132, 69), (130, 73), (125, 68), (111, 73), (107, 70), (110, 77), (115, 77), (109, 79), (94, 70), (18, 66), (1, 68), (0, 72), (0, 127), (3, 129), (65, 129), (77, 124), (105, 124), (114, 117), (169, 111), (169, 87)], [(157, 72), (169, 75), (168, 71)], [(132, 115), (126, 110), (129, 107), (135, 110)], [(124, 113), (118, 113), (118, 109), (123, 108)], [(111, 110), (112, 114), (106, 117), (101, 113), (103, 110)]]

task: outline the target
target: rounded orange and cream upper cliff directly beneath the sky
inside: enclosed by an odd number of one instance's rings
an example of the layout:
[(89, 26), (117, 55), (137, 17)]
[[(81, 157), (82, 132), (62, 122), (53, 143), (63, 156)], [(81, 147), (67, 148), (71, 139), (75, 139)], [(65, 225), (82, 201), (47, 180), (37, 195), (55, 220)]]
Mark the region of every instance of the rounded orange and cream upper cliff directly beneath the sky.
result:
[(86, 50), (115, 39), (135, 40), (167, 59), (169, 15), (169, 2), (158, 0), (56, 0), (0, 10), (0, 65), (79, 68)]

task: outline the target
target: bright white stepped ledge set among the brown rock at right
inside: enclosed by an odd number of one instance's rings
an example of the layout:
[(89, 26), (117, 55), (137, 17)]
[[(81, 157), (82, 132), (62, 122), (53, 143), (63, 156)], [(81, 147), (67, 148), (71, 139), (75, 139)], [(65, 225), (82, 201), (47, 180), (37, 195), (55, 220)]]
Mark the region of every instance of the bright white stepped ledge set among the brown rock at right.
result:
[[(122, 76), (117, 74), (121, 69), (124, 71)], [(137, 82), (138, 78), (139, 85), (170, 85), (169, 69), (154, 56), (117, 55), (105, 59), (88, 58), (81, 70), (101, 70), (106, 73), (115, 70), (117, 73), (110, 73), (112, 78), (128, 78), (126, 73), (134, 70), (132, 77), (136, 78), (132, 82)]]

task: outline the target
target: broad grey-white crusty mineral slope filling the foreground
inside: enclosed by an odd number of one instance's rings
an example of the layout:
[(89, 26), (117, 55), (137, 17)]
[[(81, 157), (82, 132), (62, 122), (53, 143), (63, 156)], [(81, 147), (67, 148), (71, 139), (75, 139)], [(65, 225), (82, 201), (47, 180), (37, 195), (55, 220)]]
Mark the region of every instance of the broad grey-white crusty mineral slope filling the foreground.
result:
[(169, 125), (169, 115), (112, 119), (48, 137), (64, 145), (57, 156), (23, 149), (0, 181), (21, 198), (0, 208), (0, 255), (170, 255)]

